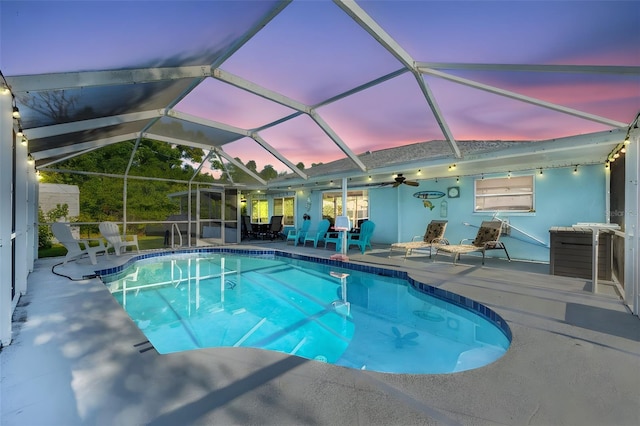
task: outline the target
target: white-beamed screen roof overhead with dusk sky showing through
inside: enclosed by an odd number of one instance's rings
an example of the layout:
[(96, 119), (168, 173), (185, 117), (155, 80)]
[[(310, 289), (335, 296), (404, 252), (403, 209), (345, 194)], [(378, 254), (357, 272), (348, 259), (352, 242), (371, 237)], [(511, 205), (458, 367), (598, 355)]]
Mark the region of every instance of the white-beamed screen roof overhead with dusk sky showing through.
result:
[(137, 138), (289, 173), (258, 186), (592, 164), (640, 111), (635, 6), (3, 1), (0, 69), (38, 168)]

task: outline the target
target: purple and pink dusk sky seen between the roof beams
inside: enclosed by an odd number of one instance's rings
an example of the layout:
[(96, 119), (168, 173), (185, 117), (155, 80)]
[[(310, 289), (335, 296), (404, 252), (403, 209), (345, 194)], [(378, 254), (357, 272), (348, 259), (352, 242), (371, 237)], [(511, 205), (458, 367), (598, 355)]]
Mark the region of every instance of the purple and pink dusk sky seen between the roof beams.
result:
[[(210, 65), (276, 3), (3, 0), (0, 70), (15, 76)], [(640, 1), (358, 4), (416, 62), (640, 66)], [(296, 0), (219, 68), (313, 107), (402, 64), (333, 2)], [(637, 70), (439, 71), (622, 123), (640, 110)], [(422, 78), (458, 140), (544, 140), (612, 128), (437, 76)], [(155, 108), (153, 99), (144, 102)], [(212, 78), (175, 110), (245, 130), (295, 112)], [(317, 112), (355, 153), (443, 139), (409, 72), (318, 106)], [(294, 164), (344, 156), (304, 114), (259, 134)], [(259, 168), (283, 170), (273, 157), (262, 157), (264, 150), (250, 138), (223, 149), (244, 162), (255, 160)]]

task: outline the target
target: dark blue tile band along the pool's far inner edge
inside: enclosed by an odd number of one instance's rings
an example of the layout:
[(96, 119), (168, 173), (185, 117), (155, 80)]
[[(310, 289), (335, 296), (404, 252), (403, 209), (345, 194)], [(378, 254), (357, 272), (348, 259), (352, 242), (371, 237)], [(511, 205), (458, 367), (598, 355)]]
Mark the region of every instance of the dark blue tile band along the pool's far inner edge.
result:
[(273, 250), (273, 249), (248, 250), (248, 249), (237, 249), (237, 248), (229, 248), (229, 247), (206, 247), (206, 248), (202, 247), (202, 248), (167, 250), (167, 251), (158, 251), (158, 252), (140, 254), (132, 257), (126, 263), (120, 266), (96, 270), (95, 273), (100, 277), (106, 276), (106, 275), (122, 274), (129, 266), (133, 265), (139, 260), (166, 256), (170, 254), (189, 254), (189, 253), (233, 253), (233, 254), (243, 254), (243, 255), (249, 255), (249, 256), (286, 257), (286, 258), (295, 259), (295, 260), (305, 260), (308, 262), (320, 263), (320, 264), (340, 267), (344, 269), (351, 269), (359, 272), (367, 272), (375, 275), (383, 275), (386, 277), (403, 279), (403, 280), (406, 280), (414, 289), (418, 290), (421, 293), (427, 294), (437, 299), (444, 300), (446, 302), (452, 303), (456, 306), (459, 306), (463, 309), (472, 311), (480, 315), (481, 317), (485, 318), (487, 321), (493, 323), (496, 327), (498, 327), (504, 333), (507, 339), (509, 339), (509, 342), (512, 341), (511, 328), (509, 327), (507, 322), (495, 311), (493, 311), (491, 308), (483, 305), (482, 303), (476, 302), (473, 299), (469, 299), (468, 297), (461, 296), (457, 293), (453, 293), (438, 287), (431, 286), (421, 281), (417, 281), (411, 278), (409, 274), (405, 271), (386, 269), (380, 266), (371, 266), (371, 265), (365, 265), (365, 264), (359, 264), (359, 263), (343, 262), (341, 260), (333, 260), (333, 259), (324, 259), (324, 258), (318, 258), (313, 256), (306, 256), (304, 254), (289, 253), (289, 252), (283, 252), (283, 251)]

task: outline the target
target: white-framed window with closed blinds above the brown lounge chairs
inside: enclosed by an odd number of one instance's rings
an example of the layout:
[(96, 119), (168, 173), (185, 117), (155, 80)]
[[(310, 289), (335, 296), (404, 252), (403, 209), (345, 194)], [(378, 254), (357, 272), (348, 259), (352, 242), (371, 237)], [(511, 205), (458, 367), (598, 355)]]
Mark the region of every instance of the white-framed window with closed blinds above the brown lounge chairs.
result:
[(533, 212), (533, 176), (476, 179), (475, 209)]

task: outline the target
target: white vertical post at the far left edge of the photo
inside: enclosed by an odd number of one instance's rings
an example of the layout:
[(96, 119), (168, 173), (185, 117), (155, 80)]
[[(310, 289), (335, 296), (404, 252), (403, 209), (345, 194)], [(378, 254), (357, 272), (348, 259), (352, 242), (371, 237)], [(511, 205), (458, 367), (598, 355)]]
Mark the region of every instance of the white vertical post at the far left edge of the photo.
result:
[(0, 346), (11, 343), (11, 317), (13, 315), (13, 117), (11, 93), (0, 88)]

